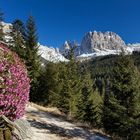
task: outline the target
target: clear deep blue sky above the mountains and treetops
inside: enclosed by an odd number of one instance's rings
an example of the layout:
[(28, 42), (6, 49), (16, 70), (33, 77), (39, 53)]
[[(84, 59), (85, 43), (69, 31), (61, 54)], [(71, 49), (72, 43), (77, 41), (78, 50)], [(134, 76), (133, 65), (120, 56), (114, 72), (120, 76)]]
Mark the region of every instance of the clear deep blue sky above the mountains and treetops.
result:
[(5, 21), (32, 14), (39, 42), (59, 47), (80, 43), (88, 31), (113, 31), (126, 43), (140, 42), (140, 0), (0, 0)]

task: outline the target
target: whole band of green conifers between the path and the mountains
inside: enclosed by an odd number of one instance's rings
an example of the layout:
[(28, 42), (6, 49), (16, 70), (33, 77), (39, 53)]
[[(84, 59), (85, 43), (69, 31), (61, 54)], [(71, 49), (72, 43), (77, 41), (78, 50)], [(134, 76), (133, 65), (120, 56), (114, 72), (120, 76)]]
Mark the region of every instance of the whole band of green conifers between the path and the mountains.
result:
[[(0, 14), (0, 23), (3, 14)], [(77, 62), (74, 48), (69, 62), (41, 67), (36, 26), (32, 16), (15, 20), (7, 42), (0, 24), (0, 40), (24, 61), (31, 79), (30, 101), (58, 107), (68, 117), (101, 128), (119, 139), (140, 139), (139, 54), (107, 56)]]

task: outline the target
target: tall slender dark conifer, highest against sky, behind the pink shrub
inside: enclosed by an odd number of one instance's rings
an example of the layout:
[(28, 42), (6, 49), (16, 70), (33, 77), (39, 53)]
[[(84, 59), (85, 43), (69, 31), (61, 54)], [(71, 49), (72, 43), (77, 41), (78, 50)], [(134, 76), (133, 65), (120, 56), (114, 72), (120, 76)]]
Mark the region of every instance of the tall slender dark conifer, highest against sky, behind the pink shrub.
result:
[(26, 24), (26, 66), (31, 79), (30, 100), (34, 101), (34, 95), (38, 88), (38, 77), (40, 74), (40, 56), (38, 55), (38, 38), (36, 34), (35, 21), (32, 16)]

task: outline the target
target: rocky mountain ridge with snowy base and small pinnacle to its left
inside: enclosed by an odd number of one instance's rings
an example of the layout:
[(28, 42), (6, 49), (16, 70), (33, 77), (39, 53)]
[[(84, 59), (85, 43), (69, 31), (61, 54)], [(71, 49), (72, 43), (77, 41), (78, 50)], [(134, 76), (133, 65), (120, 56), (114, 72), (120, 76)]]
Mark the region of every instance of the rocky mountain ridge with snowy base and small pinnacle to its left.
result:
[[(63, 49), (68, 51), (71, 47), (65, 41)], [(69, 46), (68, 46), (69, 45)], [(65, 51), (61, 52), (65, 52)], [(77, 52), (78, 50), (78, 52)], [(122, 50), (126, 54), (132, 53), (133, 51), (140, 50), (140, 43), (128, 44), (126, 45), (123, 39), (114, 32), (88, 32), (84, 35), (81, 45), (78, 46), (75, 54), (78, 59), (90, 59), (92, 57), (110, 55), (110, 54), (119, 54)]]

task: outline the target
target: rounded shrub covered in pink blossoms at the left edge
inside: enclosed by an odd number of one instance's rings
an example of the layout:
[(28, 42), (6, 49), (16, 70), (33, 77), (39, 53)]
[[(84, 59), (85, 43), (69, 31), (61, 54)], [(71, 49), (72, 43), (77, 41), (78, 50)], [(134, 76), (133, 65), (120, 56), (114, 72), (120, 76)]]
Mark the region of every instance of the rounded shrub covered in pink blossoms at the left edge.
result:
[(14, 121), (24, 114), (30, 80), (17, 54), (0, 43), (0, 115)]

